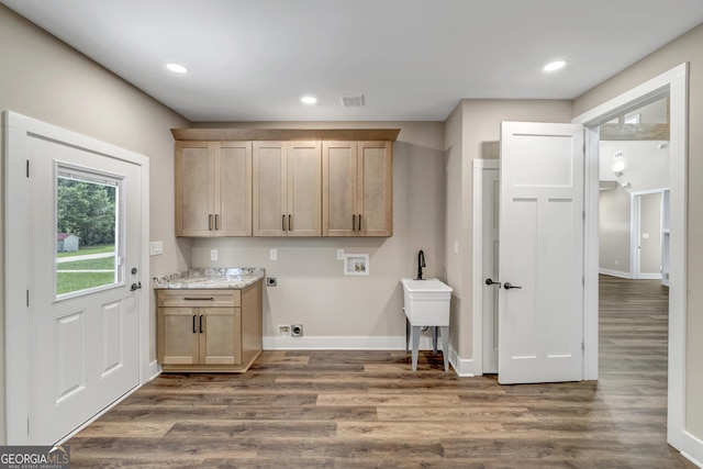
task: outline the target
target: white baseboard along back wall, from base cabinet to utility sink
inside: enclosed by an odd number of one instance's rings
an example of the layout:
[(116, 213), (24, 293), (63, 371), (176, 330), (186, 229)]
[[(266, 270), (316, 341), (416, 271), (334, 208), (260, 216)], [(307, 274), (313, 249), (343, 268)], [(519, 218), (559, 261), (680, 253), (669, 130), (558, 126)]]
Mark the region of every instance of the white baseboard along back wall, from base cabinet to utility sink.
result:
[[(432, 350), (432, 337), (423, 333), (420, 350)], [(264, 336), (265, 350), (404, 350), (405, 336)], [(437, 340), (442, 350), (442, 339)]]

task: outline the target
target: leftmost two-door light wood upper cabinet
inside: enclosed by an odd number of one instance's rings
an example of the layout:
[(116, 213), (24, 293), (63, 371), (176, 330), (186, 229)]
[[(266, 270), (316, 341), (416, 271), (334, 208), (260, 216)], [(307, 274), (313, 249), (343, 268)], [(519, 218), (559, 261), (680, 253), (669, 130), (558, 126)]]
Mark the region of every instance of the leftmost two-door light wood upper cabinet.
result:
[(176, 142), (176, 236), (250, 235), (250, 142)]

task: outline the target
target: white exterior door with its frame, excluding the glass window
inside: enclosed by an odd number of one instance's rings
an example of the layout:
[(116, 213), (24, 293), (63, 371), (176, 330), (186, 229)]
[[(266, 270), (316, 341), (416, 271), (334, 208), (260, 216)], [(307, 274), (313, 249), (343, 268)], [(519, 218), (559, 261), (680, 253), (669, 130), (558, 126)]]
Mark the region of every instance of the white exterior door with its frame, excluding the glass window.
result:
[[(8, 444), (59, 443), (153, 375), (148, 364), (148, 159), (5, 112)], [(55, 295), (56, 175), (120, 181), (121, 275)], [(29, 176), (27, 176), (29, 175)], [(146, 180), (144, 180), (146, 178)], [(136, 273), (132, 273), (132, 268)]]

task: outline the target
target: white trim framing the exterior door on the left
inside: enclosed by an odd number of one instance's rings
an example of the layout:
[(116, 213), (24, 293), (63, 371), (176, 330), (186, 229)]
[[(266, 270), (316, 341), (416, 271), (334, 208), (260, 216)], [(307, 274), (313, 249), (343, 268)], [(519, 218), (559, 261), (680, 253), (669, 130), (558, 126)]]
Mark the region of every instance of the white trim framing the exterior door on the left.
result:
[[(140, 270), (142, 280), (146, 286), (149, 282), (149, 160), (146, 156), (130, 152), (118, 146), (67, 131), (65, 129), (37, 121), (11, 111), (3, 112), (4, 121), (4, 209), (5, 209), (5, 238), (4, 238), (4, 269), (5, 272), (5, 435), (8, 445), (30, 444), (27, 438), (29, 400), (27, 387), (29, 354), (27, 344), (29, 321), (26, 314), (27, 289), (31, 286), (32, 272), (25, 259), (29, 257), (30, 245), (27, 236), (29, 197), (32, 190), (27, 182), (26, 174), (26, 139), (40, 137), (49, 141), (62, 142), (94, 153), (97, 155), (121, 159), (141, 167), (140, 181), (140, 219), (142, 231), (140, 234), (141, 253)], [(31, 170), (31, 168), (30, 168)], [(12, 201), (12, 203), (10, 203)], [(156, 369), (155, 364), (149, 362), (150, 344), (150, 314), (149, 292), (150, 288), (138, 291), (140, 298), (140, 386), (150, 379)], [(104, 411), (103, 411), (104, 412)], [(55, 442), (43, 442), (53, 444)]]

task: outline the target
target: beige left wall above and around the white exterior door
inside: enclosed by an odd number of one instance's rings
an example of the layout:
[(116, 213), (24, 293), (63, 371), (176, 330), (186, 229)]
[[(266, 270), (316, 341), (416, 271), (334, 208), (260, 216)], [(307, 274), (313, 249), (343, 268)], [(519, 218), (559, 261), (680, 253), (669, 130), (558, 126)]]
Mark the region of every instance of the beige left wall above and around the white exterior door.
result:
[[(185, 268), (188, 247), (181, 249), (174, 237), (174, 139), (169, 129), (185, 126), (188, 121), (4, 5), (0, 5), (0, 110), (149, 157), (150, 238), (164, 241), (165, 249), (163, 256), (150, 258), (152, 273)], [(4, 246), (3, 233), (4, 227), (0, 246)], [(0, 266), (4, 266), (2, 252)], [(4, 275), (0, 275), (0, 288)], [(4, 379), (4, 292), (0, 293), (0, 379)], [(0, 393), (3, 390), (4, 382), (0, 382)], [(4, 395), (0, 399), (0, 442), (4, 442)]]

